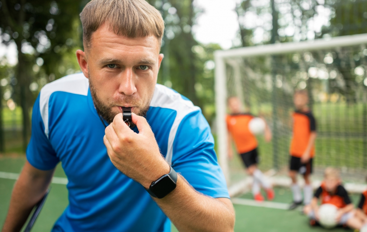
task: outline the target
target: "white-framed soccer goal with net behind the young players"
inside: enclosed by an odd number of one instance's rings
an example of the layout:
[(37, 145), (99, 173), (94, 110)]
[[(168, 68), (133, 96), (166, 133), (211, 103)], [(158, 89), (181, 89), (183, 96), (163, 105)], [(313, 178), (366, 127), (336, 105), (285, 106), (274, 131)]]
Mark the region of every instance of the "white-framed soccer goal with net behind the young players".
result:
[[(237, 96), (244, 109), (266, 119), (273, 139), (266, 143), (258, 136), (259, 167), (264, 172), (276, 173), (275, 184), (290, 183), (286, 175), (294, 111), (292, 96), (296, 89), (307, 90), (317, 121), (315, 178), (322, 176), (326, 166), (334, 166), (341, 170), (345, 182), (364, 183), (366, 45), (367, 34), (359, 34), (215, 52), (214, 131), (219, 162), (229, 186), (248, 184), (248, 180), (238, 156), (227, 158), (227, 98)], [(354, 186), (354, 190), (358, 192), (363, 187)]]

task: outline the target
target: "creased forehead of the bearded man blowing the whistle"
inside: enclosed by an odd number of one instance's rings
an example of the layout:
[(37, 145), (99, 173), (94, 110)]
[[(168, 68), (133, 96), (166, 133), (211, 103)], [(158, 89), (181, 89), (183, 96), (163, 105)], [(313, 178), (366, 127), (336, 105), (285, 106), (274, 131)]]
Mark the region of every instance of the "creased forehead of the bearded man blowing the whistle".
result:
[(160, 43), (154, 35), (129, 38), (117, 35), (106, 24), (101, 25), (91, 36), (89, 50), (115, 52), (150, 52), (159, 54)]

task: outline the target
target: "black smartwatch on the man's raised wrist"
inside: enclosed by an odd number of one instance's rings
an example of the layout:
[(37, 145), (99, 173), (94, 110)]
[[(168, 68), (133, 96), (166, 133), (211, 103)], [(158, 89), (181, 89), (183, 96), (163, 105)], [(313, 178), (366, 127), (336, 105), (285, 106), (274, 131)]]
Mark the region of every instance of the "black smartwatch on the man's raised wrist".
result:
[(170, 192), (172, 192), (176, 188), (177, 183), (177, 173), (170, 166), (170, 173), (159, 177), (158, 180), (153, 181), (150, 185), (149, 189), (146, 191), (152, 196), (156, 198), (164, 198)]

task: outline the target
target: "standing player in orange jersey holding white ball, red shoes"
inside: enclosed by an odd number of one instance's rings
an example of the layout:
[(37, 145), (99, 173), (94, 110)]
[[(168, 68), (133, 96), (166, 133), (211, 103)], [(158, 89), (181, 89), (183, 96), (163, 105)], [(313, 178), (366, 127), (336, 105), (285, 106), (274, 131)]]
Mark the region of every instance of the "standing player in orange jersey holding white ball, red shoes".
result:
[[(254, 134), (251, 133), (248, 128), (248, 123), (254, 116), (250, 113), (241, 112), (241, 103), (237, 97), (231, 97), (228, 99), (228, 106), (230, 115), (227, 116), (227, 128), (228, 128), (228, 157), (233, 157), (232, 140), (235, 142), (237, 153), (240, 154), (244, 165), (246, 166), (247, 173), (252, 175), (254, 182), (252, 184), (252, 194), (257, 201), (264, 201), (264, 197), (261, 195), (261, 187), (266, 191), (268, 200), (274, 199), (274, 191), (272, 186), (265, 179), (263, 173), (258, 169), (257, 164), (259, 162), (257, 139)], [(266, 125), (265, 127), (265, 140), (269, 142), (271, 140), (271, 132)]]

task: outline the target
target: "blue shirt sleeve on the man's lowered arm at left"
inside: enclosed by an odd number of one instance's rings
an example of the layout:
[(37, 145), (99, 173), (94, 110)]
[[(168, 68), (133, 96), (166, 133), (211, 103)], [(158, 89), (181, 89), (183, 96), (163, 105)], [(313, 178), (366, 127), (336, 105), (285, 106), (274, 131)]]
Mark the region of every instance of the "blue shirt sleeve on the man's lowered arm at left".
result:
[(45, 127), (40, 112), (40, 95), (33, 105), (32, 135), (26, 150), (28, 162), (37, 169), (51, 170), (59, 162), (55, 150), (45, 134)]

